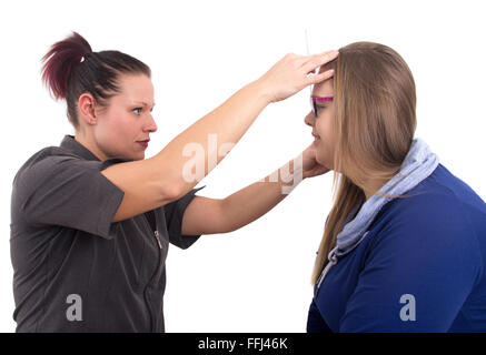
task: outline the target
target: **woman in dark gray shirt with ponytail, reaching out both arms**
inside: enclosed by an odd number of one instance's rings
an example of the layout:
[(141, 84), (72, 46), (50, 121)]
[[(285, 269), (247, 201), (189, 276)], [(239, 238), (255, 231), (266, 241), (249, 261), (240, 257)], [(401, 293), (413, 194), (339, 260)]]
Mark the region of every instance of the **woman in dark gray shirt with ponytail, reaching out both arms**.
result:
[[(330, 78), (331, 71), (310, 73), (336, 55), (286, 55), (145, 159), (157, 130), (150, 69), (119, 51), (93, 52), (76, 32), (53, 44), (42, 79), (66, 100), (76, 135), (32, 155), (13, 181), (17, 331), (163, 332), (169, 242), (186, 248), (201, 234), (255, 221), (295, 179), (272, 174), (221, 200), (196, 196), (192, 187), (267, 104)], [(217, 136), (218, 154), (204, 149), (189, 161), (187, 146), (206, 146), (209, 134)], [(290, 162), (290, 178), (324, 172), (311, 146), (302, 156), (299, 169)], [(208, 169), (194, 179), (189, 163)]]

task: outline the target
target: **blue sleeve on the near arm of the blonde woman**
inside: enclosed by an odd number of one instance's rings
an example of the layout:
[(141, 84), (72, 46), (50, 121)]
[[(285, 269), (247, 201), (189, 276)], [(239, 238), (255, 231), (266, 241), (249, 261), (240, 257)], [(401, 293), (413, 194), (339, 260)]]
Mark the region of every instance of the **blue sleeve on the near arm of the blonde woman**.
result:
[(447, 332), (482, 273), (453, 197), (415, 196), (371, 243), (339, 332)]

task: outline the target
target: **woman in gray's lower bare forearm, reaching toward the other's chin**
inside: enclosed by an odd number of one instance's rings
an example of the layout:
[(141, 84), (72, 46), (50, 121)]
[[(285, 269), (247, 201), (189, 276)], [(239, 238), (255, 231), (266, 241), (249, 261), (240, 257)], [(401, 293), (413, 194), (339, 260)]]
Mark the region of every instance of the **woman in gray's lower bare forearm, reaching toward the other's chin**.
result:
[(259, 219), (281, 202), (300, 181), (298, 160), (222, 200), (221, 233), (235, 231)]

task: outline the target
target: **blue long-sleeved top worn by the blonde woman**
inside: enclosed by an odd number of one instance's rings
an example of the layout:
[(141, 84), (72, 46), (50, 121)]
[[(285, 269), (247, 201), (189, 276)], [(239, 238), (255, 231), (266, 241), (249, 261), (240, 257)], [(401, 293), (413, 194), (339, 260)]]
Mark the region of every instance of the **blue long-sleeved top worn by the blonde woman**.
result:
[(486, 332), (486, 204), (439, 164), (339, 257), (308, 332)]

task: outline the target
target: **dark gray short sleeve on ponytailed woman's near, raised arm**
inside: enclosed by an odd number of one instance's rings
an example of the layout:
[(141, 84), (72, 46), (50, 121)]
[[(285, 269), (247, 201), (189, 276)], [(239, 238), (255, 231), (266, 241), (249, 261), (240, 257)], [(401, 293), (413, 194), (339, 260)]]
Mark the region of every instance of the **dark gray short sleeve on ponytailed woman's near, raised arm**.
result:
[(60, 225), (112, 239), (113, 216), (123, 191), (101, 171), (129, 159), (103, 162), (75, 156), (49, 156), (16, 178), (13, 193), (28, 224)]

